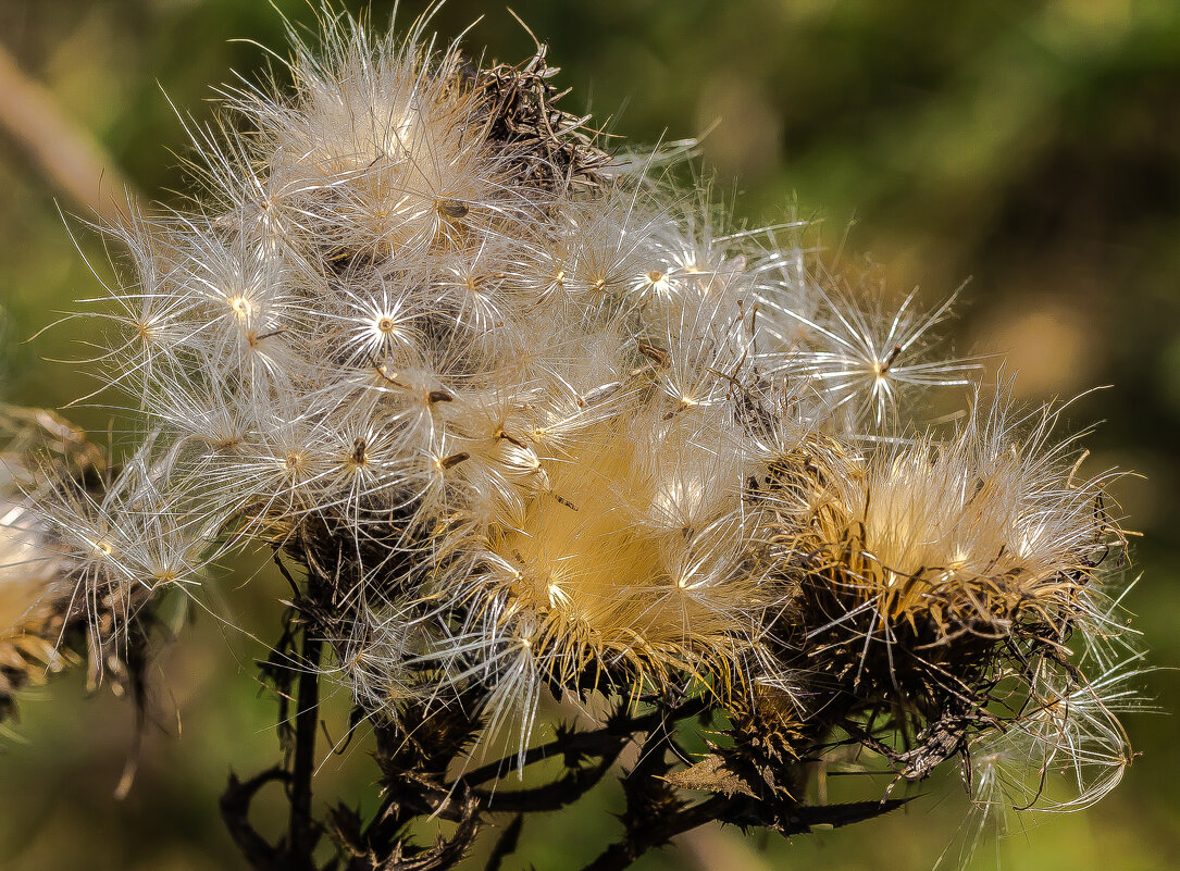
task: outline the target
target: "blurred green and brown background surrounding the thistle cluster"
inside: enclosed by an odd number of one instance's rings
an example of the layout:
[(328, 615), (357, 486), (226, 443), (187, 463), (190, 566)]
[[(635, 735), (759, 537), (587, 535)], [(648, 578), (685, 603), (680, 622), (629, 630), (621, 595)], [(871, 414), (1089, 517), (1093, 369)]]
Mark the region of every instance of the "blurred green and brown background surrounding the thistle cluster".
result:
[[(302, 0), (275, 4), (312, 21)], [(358, 11), (360, 5), (348, 2)], [(1115, 496), (1134, 543), (1128, 597), (1154, 653), (1180, 662), (1180, 4), (1169, 0), (512, 0), (563, 67), (568, 101), (637, 143), (694, 136), (717, 190), (752, 222), (799, 212), (825, 218), (824, 238), (871, 253), (894, 290), (927, 301), (964, 280), (955, 345), (1007, 354), (1022, 399), (1073, 397), (1075, 427), (1104, 421), (1090, 469), (1142, 473)], [(374, 4), (385, 21), (391, 5)], [(424, 7), (406, 1), (402, 25)], [(503, 2), (452, 0), (445, 37), (484, 20), (468, 47), (520, 60), (531, 39)], [(184, 132), (164, 93), (198, 119), (211, 85), (250, 76), (282, 48), (261, 0), (0, 0), (0, 45), (55, 104), (91, 131), (148, 197), (176, 201)], [(730, 182), (730, 179), (735, 179)], [(68, 323), (32, 335), (93, 295), (96, 280), (54, 204), (77, 210), (0, 131), (2, 399), (60, 406), (87, 392)], [(93, 234), (72, 227), (107, 274)], [(105, 428), (106, 415), (76, 419)], [(249, 581), (249, 583), (247, 583)], [(229, 770), (250, 773), (276, 752), (274, 705), (253, 659), (263, 651), (224, 628), (231, 616), (262, 638), (277, 627), (269, 572), (242, 567), (216, 591), (184, 643), (153, 675), (150, 729), (130, 798), (111, 800), (131, 747), (132, 712), (106, 694), (84, 699), (77, 676), (26, 694), (18, 732), (0, 739), (0, 867), (205, 871), (242, 864), (216, 801)], [(1180, 708), (1173, 670), (1148, 676), (1165, 710)], [(1180, 867), (1180, 749), (1171, 714), (1129, 719), (1142, 755), (1097, 807), (1045, 818), (1001, 841), (1005, 867), (1148, 871)], [(321, 797), (372, 798), (358, 742), (324, 764)], [(872, 787), (876, 788), (876, 787)], [(872, 793), (872, 788), (868, 791)], [(965, 803), (931, 784), (903, 814), (822, 836), (743, 839), (699, 832), (644, 869), (929, 869)], [(603, 791), (526, 826), (506, 867), (578, 867), (612, 837)], [(765, 846), (765, 850), (762, 849)], [(513, 864), (514, 863), (514, 864)], [(990, 867), (984, 851), (974, 866)]]

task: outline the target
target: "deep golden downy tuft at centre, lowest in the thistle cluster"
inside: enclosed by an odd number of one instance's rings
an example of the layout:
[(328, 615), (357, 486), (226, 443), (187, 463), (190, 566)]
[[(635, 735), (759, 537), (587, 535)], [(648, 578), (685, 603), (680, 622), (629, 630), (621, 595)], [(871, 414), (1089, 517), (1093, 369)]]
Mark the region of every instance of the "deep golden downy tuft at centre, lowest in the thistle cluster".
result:
[[(728, 484), (699, 469), (644, 474), (657, 465), (645, 451), (656, 448), (624, 421), (598, 424), (540, 463), (545, 486), (517, 524), (486, 533), (474, 595), (502, 602), (507, 633), (559, 686), (576, 686), (586, 669), (622, 668), (638, 686), (713, 675), (728, 692), (756, 644), (752, 615), (766, 607), (768, 584), (747, 554), (740, 474)], [(680, 519), (673, 503), (686, 493), (697, 510), (709, 500), (706, 525)], [(675, 529), (650, 522), (669, 513)]]

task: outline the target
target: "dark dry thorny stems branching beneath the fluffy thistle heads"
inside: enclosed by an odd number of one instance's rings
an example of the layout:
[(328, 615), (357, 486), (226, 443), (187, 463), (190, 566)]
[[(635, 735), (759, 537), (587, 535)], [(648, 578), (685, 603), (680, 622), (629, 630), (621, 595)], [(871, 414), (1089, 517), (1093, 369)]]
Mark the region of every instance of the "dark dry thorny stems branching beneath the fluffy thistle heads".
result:
[[(282, 761), (248, 780), (230, 775), (221, 811), (230, 836), (255, 871), (444, 871), (454, 867), (472, 850), (493, 814), (513, 814), (492, 845), (485, 871), (498, 871), (517, 847), (529, 814), (557, 811), (573, 804), (607, 775), (617, 771), (623, 749), (635, 742), (635, 767), (618, 775), (625, 810), (618, 819), (623, 833), (584, 871), (625, 869), (648, 850), (707, 823), (766, 826), (782, 834), (807, 832), (814, 825), (840, 826), (885, 813), (903, 801), (807, 807), (794, 801), (769, 801), (746, 794), (714, 794), (703, 801), (686, 799), (684, 790), (667, 779), (690, 762), (677, 741), (677, 725), (708, 715), (702, 698), (651, 698), (641, 705), (621, 706), (604, 725), (577, 731), (556, 728), (553, 740), (494, 762), (466, 768), (466, 753), (483, 728), (479, 699), (457, 703), (408, 706), (394, 722), (379, 713), (356, 708), (354, 722), (367, 720), (376, 738), (374, 759), (380, 768), (381, 801), (375, 813), (337, 804), (316, 813), (313, 774), (316, 732), (320, 729), (320, 663), (324, 634), (314, 615), (327, 609), (317, 591), (329, 585), (308, 578), (303, 595), (296, 589), (283, 634), (270, 657), (260, 663), (263, 681), (278, 700), (278, 738)], [(640, 708), (644, 713), (638, 713)], [(505, 790), (503, 779), (544, 760), (560, 759), (563, 772), (540, 786)], [(448, 772), (463, 771), (453, 775)], [(289, 804), (287, 830), (269, 840), (250, 821), (258, 792), (271, 782), (284, 787)], [(445, 820), (454, 825), (450, 838), (433, 845), (415, 843), (415, 820)], [(317, 863), (316, 849), (324, 836), (334, 854)], [(321, 851), (322, 852), (322, 851)]]

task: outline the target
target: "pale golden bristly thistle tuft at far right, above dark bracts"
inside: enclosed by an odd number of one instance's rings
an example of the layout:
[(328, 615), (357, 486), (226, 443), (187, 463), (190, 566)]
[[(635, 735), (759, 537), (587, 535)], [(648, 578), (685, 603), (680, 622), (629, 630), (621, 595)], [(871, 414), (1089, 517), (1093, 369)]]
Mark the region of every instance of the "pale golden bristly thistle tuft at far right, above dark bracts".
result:
[(1064, 631), (1115, 525), (1095, 482), (1030, 466), (1011, 443), (979, 456), (977, 433), (854, 459), (817, 493), (800, 550), (852, 601), (892, 626), (1008, 634), (1034, 620)]

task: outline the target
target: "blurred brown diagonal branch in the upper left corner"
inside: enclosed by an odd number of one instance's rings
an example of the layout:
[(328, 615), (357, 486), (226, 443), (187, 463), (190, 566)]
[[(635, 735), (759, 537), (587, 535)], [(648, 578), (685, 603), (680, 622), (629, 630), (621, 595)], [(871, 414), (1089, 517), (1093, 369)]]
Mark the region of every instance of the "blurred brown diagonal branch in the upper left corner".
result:
[(87, 130), (61, 111), (48, 89), (25, 74), (4, 46), (0, 46), (0, 127), (84, 212), (119, 224), (136, 209), (139, 196), (114, 159)]

